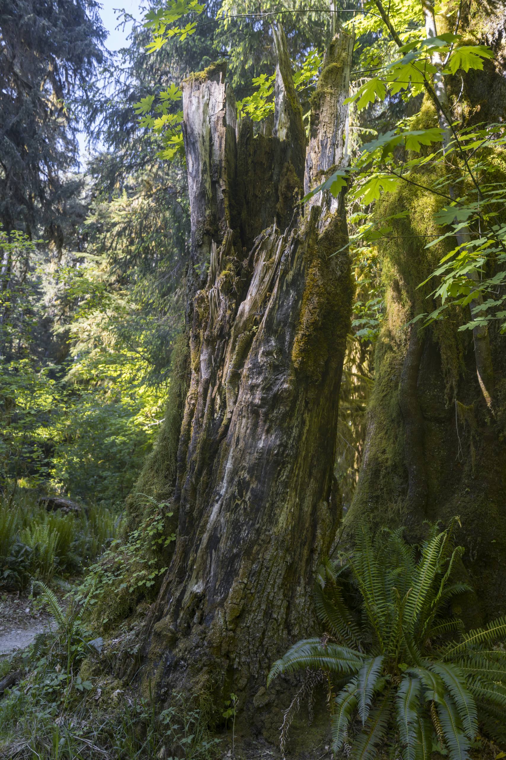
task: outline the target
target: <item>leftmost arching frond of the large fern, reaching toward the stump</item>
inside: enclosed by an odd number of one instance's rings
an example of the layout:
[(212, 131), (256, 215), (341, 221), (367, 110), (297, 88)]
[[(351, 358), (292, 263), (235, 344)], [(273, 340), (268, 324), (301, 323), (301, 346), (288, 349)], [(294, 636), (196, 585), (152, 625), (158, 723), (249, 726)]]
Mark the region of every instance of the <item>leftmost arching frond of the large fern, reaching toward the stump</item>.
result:
[(296, 670), (328, 670), (332, 673), (357, 673), (363, 663), (363, 655), (353, 649), (338, 644), (322, 645), (319, 638), (297, 641), (286, 654), (276, 660), (267, 677), (267, 686), (280, 673), (294, 673)]

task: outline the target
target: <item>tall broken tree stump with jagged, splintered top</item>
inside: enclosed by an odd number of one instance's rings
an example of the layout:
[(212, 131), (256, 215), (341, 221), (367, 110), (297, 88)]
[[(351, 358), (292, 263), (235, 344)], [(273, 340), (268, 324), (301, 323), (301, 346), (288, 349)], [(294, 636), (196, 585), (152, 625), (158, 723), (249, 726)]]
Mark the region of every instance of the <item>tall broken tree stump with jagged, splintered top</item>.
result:
[(256, 708), (275, 657), (315, 630), (314, 574), (340, 511), (332, 469), (352, 299), (342, 195), (299, 200), (346, 163), (353, 40), (339, 33), (327, 54), (306, 150), (273, 31), (272, 135), (237, 123), (224, 65), (183, 87), (191, 378), (178, 538), (148, 623), (159, 693), (234, 691)]

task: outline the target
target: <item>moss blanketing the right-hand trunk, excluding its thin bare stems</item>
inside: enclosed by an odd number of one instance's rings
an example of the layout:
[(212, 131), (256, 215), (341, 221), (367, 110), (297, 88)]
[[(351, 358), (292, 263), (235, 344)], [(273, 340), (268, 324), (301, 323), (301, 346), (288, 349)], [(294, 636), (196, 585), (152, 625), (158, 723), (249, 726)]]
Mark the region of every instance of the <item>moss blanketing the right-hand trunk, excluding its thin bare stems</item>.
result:
[[(435, 123), (432, 105), (424, 103), (413, 128), (432, 127)], [(503, 154), (490, 150), (486, 166), (490, 169), (486, 182), (504, 182)], [(420, 185), (432, 185), (445, 171), (442, 165), (420, 167), (412, 179)], [(467, 182), (470, 180), (465, 177), (463, 192)], [(407, 323), (439, 305), (430, 296), (436, 281), (423, 287), (419, 284), (455, 245), (449, 237), (426, 248), (427, 242), (445, 231), (433, 222), (434, 212), (443, 204), (445, 198), (406, 182), (395, 192), (385, 194), (376, 205), (379, 226), (384, 226), (385, 217), (392, 214), (408, 214), (389, 220), (391, 230), (378, 242), (386, 314), (376, 346), (375, 388), (368, 410), (363, 467), (346, 519), (350, 527), (364, 518), (376, 525), (394, 526), (410, 519), (420, 525), (424, 518), (445, 522), (460, 515), (462, 530), (458, 540), (466, 549), (467, 572), (479, 590), (479, 603), (467, 610), (469, 620), (479, 614), (478, 607), (488, 617), (504, 610), (506, 603), (506, 594), (498, 590), (504, 584), (495, 580), (498, 573), (504, 573), (501, 568), (506, 550), (506, 392), (501, 379), (506, 372), (506, 352), (497, 325), (489, 330), (497, 387), (495, 420), (482, 400), (476, 377), (473, 335), (458, 330), (469, 320), (469, 309), (448, 309), (444, 319), (423, 328), (416, 396), (423, 419), (419, 435), (427, 499), (423, 513), (414, 518), (407, 511), (404, 419), (399, 404), (399, 382), (409, 335)], [(494, 261), (489, 262), (491, 273), (494, 265)]]

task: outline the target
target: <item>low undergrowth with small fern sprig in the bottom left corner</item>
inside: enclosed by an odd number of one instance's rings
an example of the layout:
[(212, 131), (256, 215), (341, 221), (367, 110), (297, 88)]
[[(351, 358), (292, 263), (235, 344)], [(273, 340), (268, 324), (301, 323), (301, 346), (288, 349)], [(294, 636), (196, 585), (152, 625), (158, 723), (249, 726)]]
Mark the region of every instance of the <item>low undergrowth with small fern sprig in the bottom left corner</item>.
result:
[[(92, 595), (74, 596), (64, 609), (49, 587), (38, 590), (55, 619), (23, 654), (0, 660), (0, 678), (20, 670), (20, 681), (0, 701), (0, 758), (39, 760), (212, 760), (218, 739), (209, 715), (182, 695), (163, 710), (112, 676), (90, 676), (83, 660), (98, 657), (102, 639), (86, 618)], [(87, 622), (86, 622), (87, 621)]]

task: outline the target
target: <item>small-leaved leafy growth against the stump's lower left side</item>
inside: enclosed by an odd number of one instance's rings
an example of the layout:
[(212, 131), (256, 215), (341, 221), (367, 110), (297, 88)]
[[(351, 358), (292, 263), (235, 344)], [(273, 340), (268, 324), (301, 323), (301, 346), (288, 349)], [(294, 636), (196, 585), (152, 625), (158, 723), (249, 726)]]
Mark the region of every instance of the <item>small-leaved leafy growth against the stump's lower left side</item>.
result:
[(174, 514), (167, 502), (137, 493), (143, 517), (134, 530), (124, 529), (99, 561), (91, 565), (77, 599), (90, 597), (92, 618), (101, 629), (133, 613), (141, 600), (152, 599), (168, 569), (174, 534)]

